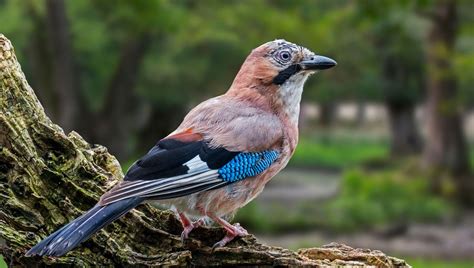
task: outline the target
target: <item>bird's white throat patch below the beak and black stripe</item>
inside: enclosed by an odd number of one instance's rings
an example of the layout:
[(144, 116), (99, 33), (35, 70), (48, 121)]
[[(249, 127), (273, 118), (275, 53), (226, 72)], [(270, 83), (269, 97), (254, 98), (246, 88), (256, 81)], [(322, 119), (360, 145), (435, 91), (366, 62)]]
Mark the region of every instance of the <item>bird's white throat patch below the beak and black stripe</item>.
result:
[(283, 108), (290, 120), (295, 124), (298, 124), (303, 86), (309, 75), (310, 73), (306, 72), (295, 74), (280, 86), (279, 93)]

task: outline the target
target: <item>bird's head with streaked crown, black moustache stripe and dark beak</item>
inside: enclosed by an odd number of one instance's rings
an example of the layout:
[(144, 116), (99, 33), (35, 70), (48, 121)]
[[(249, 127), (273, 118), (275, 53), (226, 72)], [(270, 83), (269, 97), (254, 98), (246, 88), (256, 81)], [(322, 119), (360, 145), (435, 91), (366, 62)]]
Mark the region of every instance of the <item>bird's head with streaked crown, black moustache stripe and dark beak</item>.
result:
[(230, 94), (272, 100), (297, 117), (303, 86), (311, 74), (336, 66), (336, 61), (307, 48), (277, 39), (250, 53), (229, 90)]

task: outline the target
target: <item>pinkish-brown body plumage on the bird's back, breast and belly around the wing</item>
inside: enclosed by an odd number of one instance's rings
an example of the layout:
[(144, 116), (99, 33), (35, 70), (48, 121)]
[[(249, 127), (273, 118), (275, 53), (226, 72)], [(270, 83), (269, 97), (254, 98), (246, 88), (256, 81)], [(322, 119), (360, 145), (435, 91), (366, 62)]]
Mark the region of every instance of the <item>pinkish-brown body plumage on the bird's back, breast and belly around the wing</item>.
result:
[(275, 114), (267, 105), (255, 100), (222, 95), (203, 102), (193, 109), (178, 129), (203, 135), (215, 146), (239, 152), (277, 150), (278, 159), (263, 173), (229, 184), (223, 188), (172, 200), (180, 211), (197, 217), (212, 212), (218, 216), (233, 214), (254, 199), (265, 184), (283, 169), (298, 142), (297, 122), (285, 114)]

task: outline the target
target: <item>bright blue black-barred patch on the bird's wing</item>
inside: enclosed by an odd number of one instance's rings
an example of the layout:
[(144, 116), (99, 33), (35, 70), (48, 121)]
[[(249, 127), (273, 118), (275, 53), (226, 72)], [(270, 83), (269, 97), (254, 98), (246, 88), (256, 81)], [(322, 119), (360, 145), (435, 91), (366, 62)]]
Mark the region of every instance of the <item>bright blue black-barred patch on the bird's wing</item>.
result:
[(278, 152), (268, 150), (257, 153), (239, 153), (218, 170), (225, 182), (235, 182), (256, 176), (268, 169), (278, 158)]

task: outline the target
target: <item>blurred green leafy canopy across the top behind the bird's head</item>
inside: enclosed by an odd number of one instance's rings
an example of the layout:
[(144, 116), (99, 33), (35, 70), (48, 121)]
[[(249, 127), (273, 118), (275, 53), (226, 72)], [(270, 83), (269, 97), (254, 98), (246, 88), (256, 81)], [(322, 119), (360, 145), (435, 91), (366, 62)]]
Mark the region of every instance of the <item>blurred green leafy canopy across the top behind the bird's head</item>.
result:
[[(249, 51), (269, 40), (285, 38), (334, 57), (340, 66), (326, 79), (309, 81), (305, 97), (327, 102), (341, 99), (380, 100), (387, 83), (379, 65), (384, 55), (422, 68), (426, 18), (416, 1), (69, 1), (74, 61), (80, 69), (83, 97), (98, 109), (107, 79), (117, 64), (120, 44), (146, 32), (152, 36), (137, 91), (154, 105), (186, 106), (223, 93)], [(35, 30), (31, 12), (44, 16), (43, 1), (0, 2), (0, 32), (24, 54)], [(468, 5), (466, 5), (468, 6)], [(473, 30), (469, 8), (461, 16), (455, 58), (463, 100), (472, 101)], [(467, 22), (467, 23), (464, 23)], [(383, 40), (382, 50), (377, 39)], [(381, 54), (382, 53), (382, 54)], [(190, 68), (192, 66), (192, 68)], [(219, 68), (216, 68), (218, 66)], [(26, 68), (27, 71), (29, 68)], [(31, 75), (28, 75), (31, 77)], [(411, 77), (414, 79), (417, 76)], [(419, 95), (407, 90), (416, 81), (389, 81), (390, 94)], [(398, 84), (397, 84), (398, 83)], [(399, 89), (399, 88), (397, 88)], [(406, 96), (405, 96), (406, 97)]]

